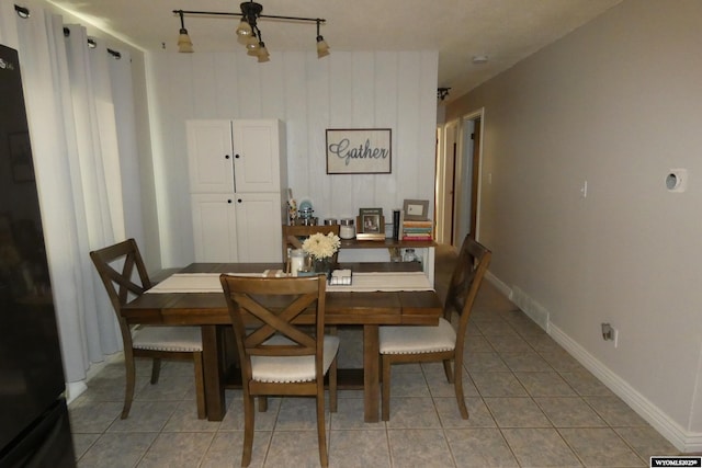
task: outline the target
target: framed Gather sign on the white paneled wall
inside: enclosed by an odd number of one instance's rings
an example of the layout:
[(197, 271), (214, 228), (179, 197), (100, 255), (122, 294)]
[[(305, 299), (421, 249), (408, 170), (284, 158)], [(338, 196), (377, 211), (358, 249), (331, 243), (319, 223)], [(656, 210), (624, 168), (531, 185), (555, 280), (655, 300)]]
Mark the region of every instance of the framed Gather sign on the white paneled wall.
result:
[(389, 128), (328, 128), (328, 174), (389, 174)]

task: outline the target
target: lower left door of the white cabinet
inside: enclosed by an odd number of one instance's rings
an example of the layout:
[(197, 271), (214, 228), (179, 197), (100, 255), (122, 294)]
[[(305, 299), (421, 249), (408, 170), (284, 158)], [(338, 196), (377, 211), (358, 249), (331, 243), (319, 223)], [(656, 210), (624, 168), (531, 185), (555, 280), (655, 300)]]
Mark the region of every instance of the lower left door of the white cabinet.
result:
[(191, 204), (195, 261), (238, 262), (234, 194), (194, 194)]

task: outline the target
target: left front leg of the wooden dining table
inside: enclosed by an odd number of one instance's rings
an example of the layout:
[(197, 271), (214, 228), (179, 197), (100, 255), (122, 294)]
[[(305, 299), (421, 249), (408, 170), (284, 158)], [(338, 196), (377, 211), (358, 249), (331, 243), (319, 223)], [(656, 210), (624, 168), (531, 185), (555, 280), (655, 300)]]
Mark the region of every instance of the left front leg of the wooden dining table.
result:
[(224, 387), (219, 369), (217, 326), (202, 326), (202, 359), (205, 378), (207, 420), (222, 421), (225, 414)]

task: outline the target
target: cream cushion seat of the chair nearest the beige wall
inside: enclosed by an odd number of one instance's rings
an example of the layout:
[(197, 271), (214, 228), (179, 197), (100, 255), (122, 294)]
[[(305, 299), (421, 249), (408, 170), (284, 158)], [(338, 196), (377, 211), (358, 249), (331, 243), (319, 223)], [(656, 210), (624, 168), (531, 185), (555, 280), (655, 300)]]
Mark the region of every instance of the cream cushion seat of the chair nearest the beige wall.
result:
[(456, 332), (445, 319), (437, 327), (381, 327), (381, 354), (420, 354), (451, 351)]

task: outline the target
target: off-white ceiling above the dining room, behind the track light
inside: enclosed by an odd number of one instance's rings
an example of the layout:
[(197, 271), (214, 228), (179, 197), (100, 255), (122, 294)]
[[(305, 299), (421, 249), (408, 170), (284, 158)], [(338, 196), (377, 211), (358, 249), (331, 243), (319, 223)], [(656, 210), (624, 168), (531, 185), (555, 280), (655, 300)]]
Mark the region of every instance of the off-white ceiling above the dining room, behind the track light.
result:
[[(233, 0), (49, 0), (143, 50), (177, 50), (173, 10), (240, 12)], [(258, 0), (263, 14), (324, 18), (335, 50), (438, 50), (445, 102), (465, 94), (622, 0)], [(238, 19), (186, 16), (195, 53), (241, 50)], [(314, 50), (314, 23), (259, 20), (276, 50)], [(484, 64), (473, 57), (487, 56)], [(265, 66), (265, 64), (261, 64)]]

